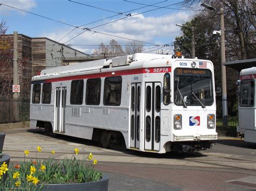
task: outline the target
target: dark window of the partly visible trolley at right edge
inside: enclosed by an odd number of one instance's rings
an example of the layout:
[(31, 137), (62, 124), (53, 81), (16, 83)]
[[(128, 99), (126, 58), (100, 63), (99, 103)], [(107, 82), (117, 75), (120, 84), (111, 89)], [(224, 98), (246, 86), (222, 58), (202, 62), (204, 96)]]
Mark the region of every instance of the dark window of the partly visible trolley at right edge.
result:
[(254, 105), (254, 81), (247, 80), (240, 83), (240, 105), (251, 107)]

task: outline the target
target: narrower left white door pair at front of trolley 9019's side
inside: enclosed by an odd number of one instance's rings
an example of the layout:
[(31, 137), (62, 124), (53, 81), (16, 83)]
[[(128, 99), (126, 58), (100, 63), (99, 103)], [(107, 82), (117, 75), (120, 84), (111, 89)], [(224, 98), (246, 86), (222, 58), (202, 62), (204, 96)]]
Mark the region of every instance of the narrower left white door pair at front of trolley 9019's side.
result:
[(140, 88), (141, 83), (131, 84), (131, 147), (140, 146)]

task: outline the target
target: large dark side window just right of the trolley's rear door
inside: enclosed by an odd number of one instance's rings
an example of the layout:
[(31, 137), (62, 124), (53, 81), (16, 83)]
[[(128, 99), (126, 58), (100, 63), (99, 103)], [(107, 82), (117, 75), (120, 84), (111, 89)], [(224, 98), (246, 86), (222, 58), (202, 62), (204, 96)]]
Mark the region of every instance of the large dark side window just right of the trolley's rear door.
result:
[(81, 105), (83, 103), (84, 80), (71, 82), (70, 104)]

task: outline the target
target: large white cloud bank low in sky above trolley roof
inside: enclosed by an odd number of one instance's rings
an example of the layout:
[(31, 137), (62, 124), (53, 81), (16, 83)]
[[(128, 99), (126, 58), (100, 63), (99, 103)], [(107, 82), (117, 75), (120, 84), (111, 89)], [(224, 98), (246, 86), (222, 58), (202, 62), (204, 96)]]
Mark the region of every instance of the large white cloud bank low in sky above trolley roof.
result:
[[(134, 15), (134, 13), (132, 15)], [(176, 26), (176, 23), (183, 24), (188, 21), (190, 16), (191, 13), (188, 12), (176, 12), (160, 17), (145, 17), (142, 14), (139, 14), (134, 17), (129, 17), (126, 19), (118, 20), (117, 22), (97, 27), (92, 29), (92, 31), (103, 32), (113, 36), (144, 41), (152, 44), (164, 45), (169, 44), (174, 40), (176, 36), (180, 35), (180, 27)], [(72, 29), (59, 29), (58, 31), (51, 33), (43, 33), (42, 36), (58, 41), (71, 30)], [(105, 45), (107, 45), (111, 39), (115, 39), (120, 45), (125, 45), (127, 44), (127, 41), (129, 41), (127, 39), (107, 36), (97, 32), (93, 33), (92, 31), (84, 32), (80, 36), (69, 41), (67, 44), (99, 45), (103, 42)], [(74, 32), (70, 33), (68, 36), (62, 39), (60, 43), (65, 43), (80, 32), (82, 32), (82, 30), (76, 29)], [(73, 48), (77, 48), (82, 51), (88, 51), (85, 53), (91, 53), (92, 49), (98, 47), (74, 46)]]

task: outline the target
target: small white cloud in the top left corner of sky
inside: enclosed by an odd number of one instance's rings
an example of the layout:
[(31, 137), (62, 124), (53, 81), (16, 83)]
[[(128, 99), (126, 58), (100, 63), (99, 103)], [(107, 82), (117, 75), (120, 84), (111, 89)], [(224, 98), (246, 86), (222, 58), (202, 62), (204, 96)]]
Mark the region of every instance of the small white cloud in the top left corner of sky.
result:
[[(0, 3), (9, 5), (9, 6), (14, 6), (15, 8), (22, 9), (25, 11), (28, 11), (31, 8), (34, 8), (36, 6), (35, 0), (1, 0)], [(2, 15), (9, 15), (11, 11), (15, 11), (15, 9), (5, 5), (0, 6), (0, 12)], [(22, 15), (24, 14), (24, 12), (22, 11), (18, 11), (18, 12), (21, 13)]]

